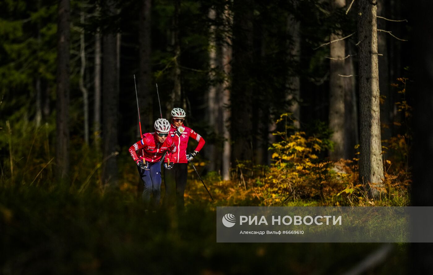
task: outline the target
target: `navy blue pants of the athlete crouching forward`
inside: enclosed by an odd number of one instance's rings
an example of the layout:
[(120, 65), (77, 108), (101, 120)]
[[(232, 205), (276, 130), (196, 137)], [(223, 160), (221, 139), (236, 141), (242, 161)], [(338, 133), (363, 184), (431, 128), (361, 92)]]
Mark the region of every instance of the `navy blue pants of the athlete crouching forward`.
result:
[(144, 182), (142, 198), (146, 209), (157, 209), (161, 200), (161, 162), (149, 163), (149, 170), (138, 167), (138, 172)]

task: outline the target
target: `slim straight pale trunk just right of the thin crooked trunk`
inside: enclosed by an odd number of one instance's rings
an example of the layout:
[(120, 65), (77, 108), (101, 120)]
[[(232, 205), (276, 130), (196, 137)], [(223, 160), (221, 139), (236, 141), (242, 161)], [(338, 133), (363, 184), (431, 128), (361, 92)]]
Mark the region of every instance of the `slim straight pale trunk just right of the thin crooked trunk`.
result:
[(95, 76), (94, 76), (94, 87), (95, 87), (95, 98), (94, 98), (94, 133), (95, 140), (98, 141), (100, 138), (101, 131), (101, 35), (98, 32), (95, 34)]

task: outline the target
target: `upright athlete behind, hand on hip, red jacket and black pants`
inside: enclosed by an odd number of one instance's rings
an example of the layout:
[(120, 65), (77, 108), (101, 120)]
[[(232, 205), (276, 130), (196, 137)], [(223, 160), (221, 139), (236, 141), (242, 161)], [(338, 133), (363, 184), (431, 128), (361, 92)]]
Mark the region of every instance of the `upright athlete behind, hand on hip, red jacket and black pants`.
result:
[[(165, 185), (165, 197), (164, 205), (167, 206), (169, 200), (174, 197), (174, 185), (176, 186), (176, 202), (178, 210), (184, 208), (184, 193), (185, 186), (187, 184), (187, 174), (188, 174), (188, 161), (193, 160), (193, 158), (200, 152), (201, 148), (205, 143), (204, 138), (197, 134), (191, 128), (184, 126), (183, 122), (185, 119), (185, 111), (181, 108), (174, 108), (171, 110), (171, 129), (170, 137), (173, 138), (174, 144), (176, 146), (176, 153), (172, 154), (172, 157), (176, 157), (174, 161), (174, 169), (164, 170), (164, 185)], [(188, 139), (193, 138), (198, 142), (197, 147), (194, 152), (187, 154)], [(164, 166), (167, 166), (167, 160), (164, 160)], [(170, 161), (172, 161), (170, 159)]]

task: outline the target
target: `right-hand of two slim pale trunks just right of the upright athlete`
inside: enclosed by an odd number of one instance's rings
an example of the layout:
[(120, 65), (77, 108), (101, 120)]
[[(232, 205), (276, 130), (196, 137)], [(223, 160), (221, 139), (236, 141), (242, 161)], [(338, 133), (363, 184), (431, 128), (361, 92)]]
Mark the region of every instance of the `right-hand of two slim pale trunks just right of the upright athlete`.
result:
[(222, 93), (222, 105), (220, 105), (221, 113), (222, 113), (222, 120), (223, 120), (223, 137), (224, 137), (224, 143), (223, 143), (223, 158), (222, 158), (222, 173), (221, 176), (223, 180), (230, 180), (230, 166), (231, 166), (231, 137), (230, 137), (230, 87), (231, 87), (231, 79), (230, 74), (232, 71), (232, 41), (230, 37), (232, 37), (231, 33), (231, 26), (233, 25), (233, 14), (231, 13), (228, 5), (224, 8), (223, 13), (223, 22), (225, 26), (224, 33), (224, 41), (222, 44), (222, 56), (223, 56), (223, 72), (225, 75), (225, 79), (223, 82), (223, 93)]

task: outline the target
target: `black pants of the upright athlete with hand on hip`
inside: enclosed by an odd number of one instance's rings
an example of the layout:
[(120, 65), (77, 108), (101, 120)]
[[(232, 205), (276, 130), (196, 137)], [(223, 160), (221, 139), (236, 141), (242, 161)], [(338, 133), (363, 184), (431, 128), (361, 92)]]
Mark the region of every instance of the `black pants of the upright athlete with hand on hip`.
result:
[(188, 163), (174, 163), (174, 167), (170, 170), (164, 169), (165, 196), (163, 205), (165, 207), (174, 205), (174, 201), (176, 201), (178, 211), (184, 209), (184, 193), (188, 175), (187, 165)]

